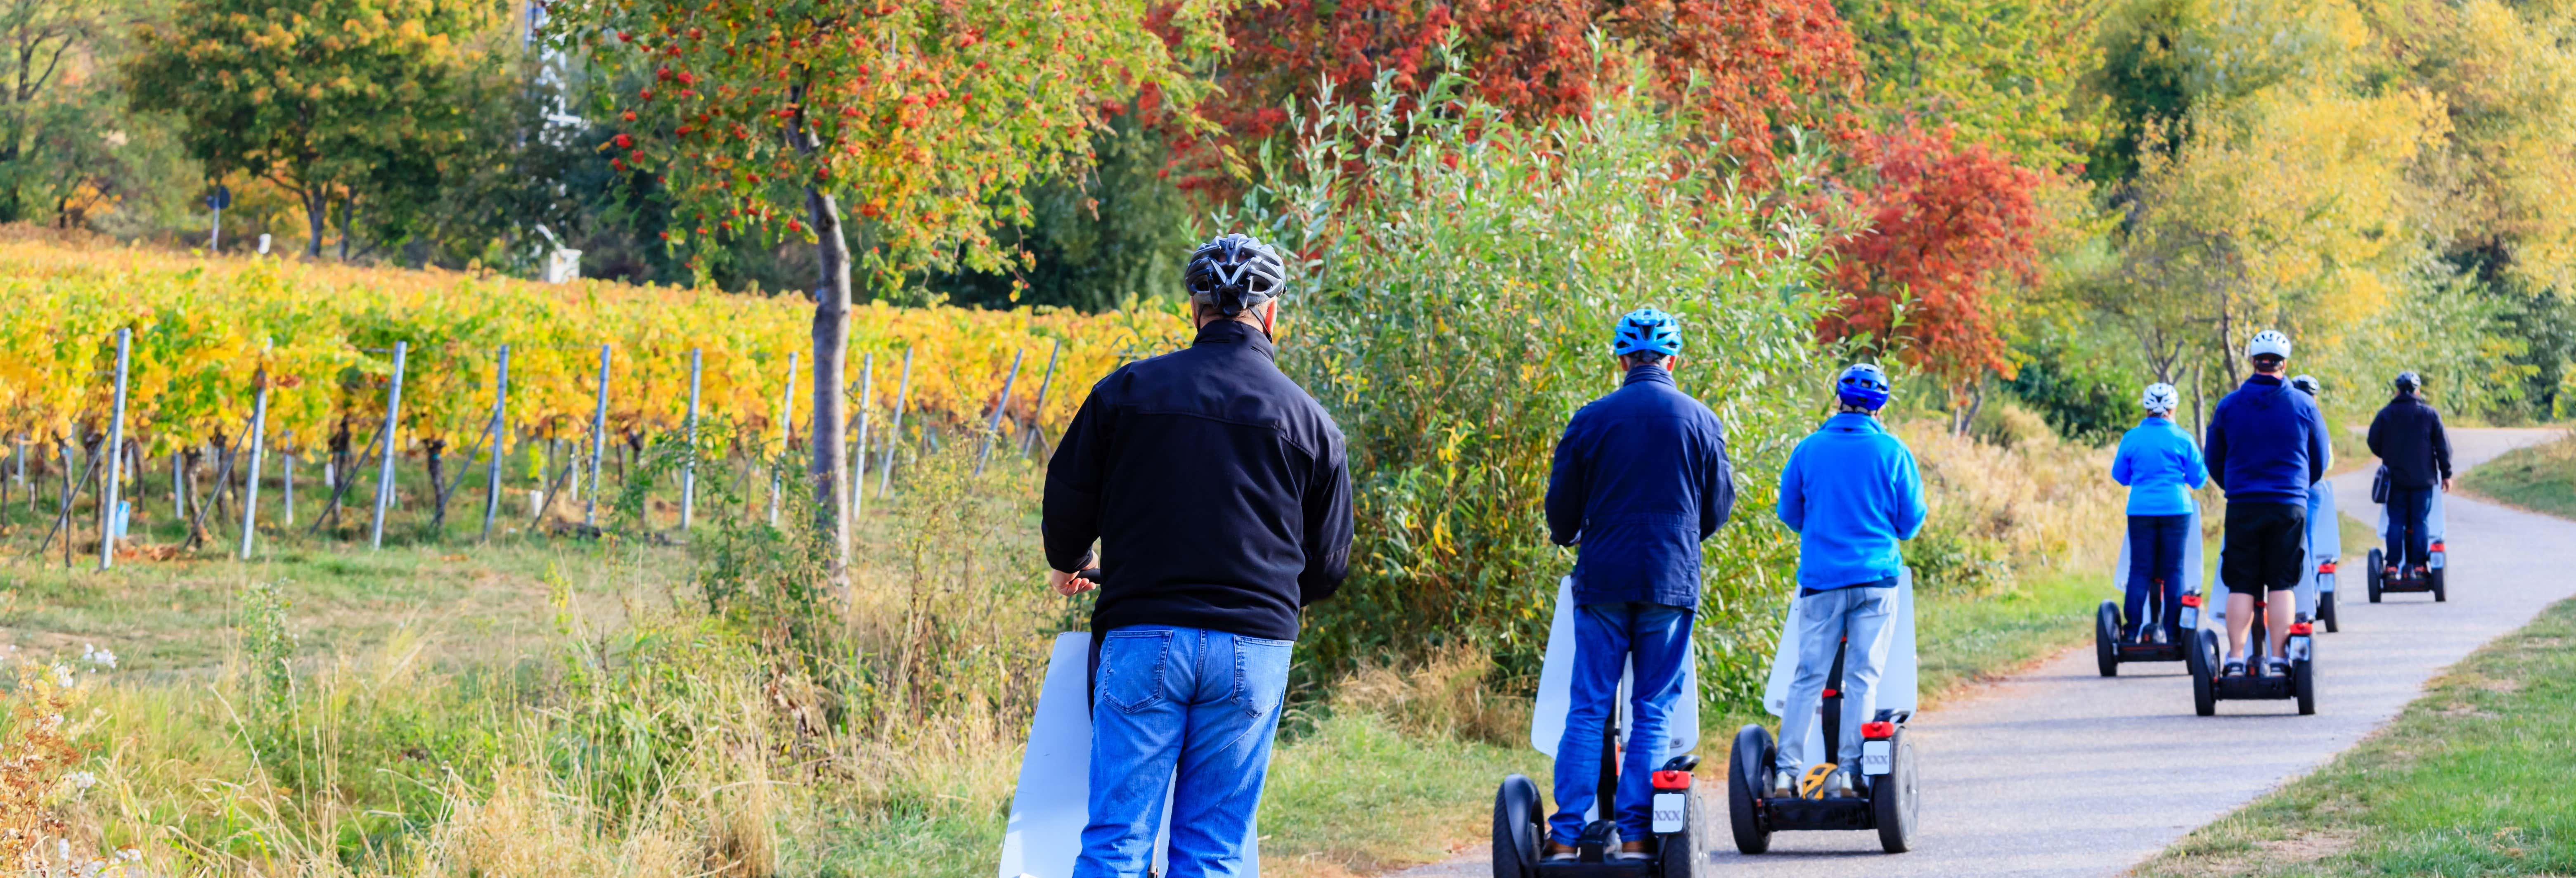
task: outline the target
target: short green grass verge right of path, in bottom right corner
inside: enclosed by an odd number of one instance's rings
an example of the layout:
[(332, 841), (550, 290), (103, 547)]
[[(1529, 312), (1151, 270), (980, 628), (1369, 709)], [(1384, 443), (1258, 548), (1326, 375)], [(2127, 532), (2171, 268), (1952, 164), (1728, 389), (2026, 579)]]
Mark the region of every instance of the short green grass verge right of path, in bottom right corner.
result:
[(2576, 600), (2486, 644), (2324, 770), (2138, 868), (2202, 875), (2576, 873)]

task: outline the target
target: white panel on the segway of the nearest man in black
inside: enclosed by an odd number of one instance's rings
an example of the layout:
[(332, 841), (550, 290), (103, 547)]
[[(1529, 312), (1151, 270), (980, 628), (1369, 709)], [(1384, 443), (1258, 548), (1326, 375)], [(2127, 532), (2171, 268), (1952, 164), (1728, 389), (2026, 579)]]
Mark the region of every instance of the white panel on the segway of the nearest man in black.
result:
[[(1092, 633), (1056, 633), (1056, 654), (1046, 662), (1038, 687), (1038, 716), (1028, 721), (1028, 752), (1020, 754), (1020, 788), (1010, 796), (1010, 824), (1002, 829), (999, 878), (1069, 878), (1082, 855), (1082, 827), (1092, 801)], [(1244, 875), (1260, 875), (1260, 827), (1244, 839)], [(1170, 873), (1172, 785), (1162, 788), (1162, 827), (1154, 829), (1154, 873)]]

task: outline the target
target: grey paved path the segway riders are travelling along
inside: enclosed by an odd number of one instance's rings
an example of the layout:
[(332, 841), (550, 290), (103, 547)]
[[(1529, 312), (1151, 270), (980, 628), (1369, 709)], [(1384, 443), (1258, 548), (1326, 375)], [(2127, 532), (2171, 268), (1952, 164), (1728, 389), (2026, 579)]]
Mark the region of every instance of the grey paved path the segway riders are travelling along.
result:
[[(2452, 430), (2452, 443), (2465, 469), (2558, 433)], [(2336, 497), (2344, 515), (2375, 520), (2370, 466), (2339, 476)], [(2344, 546), (2354, 574), (2336, 595), (2342, 631), (2316, 639), (2316, 716), (2290, 700), (2223, 700), (2218, 716), (2192, 716), (2179, 662), (2128, 664), (2105, 680), (2087, 641), (1914, 721), (1924, 790), (1914, 852), (1883, 855), (1873, 832), (1780, 832), (1772, 852), (1744, 857), (1721, 811), (1716, 873), (2117, 875), (2324, 765), (2393, 718), (2424, 680), (2576, 595), (2576, 523), (2450, 497), (2447, 530), (2450, 602), (2388, 595), (2370, 605), (2357, 564), (2370, 546)], [(1399, 873), (1471, 875), (1492, 875), (1481, 852)]]

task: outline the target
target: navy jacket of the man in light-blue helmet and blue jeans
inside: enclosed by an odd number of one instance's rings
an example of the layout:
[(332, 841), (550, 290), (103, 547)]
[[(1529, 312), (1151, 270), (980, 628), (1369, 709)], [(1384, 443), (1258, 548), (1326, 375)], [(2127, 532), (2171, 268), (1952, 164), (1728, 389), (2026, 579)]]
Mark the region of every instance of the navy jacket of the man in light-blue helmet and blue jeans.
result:
[(1548, 471), (1548, 538), (1582, 543), (1574, 602), (1700, 605), (1700, 541), (1736, 507), (1726, 425), (1638, 366), (1610, 397), (1574, 412)]

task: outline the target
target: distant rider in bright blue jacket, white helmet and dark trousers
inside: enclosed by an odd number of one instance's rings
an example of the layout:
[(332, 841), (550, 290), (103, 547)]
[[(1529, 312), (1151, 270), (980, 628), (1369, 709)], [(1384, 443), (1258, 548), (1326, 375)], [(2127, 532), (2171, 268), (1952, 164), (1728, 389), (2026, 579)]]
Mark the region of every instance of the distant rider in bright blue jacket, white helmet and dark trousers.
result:
[[(2195, 536), (2192, 489), (2210, 481), (2210, 469), (2200, 461), (2200, 443), (2174, 425), (2182, 394), (2172, 384), (2148, 384), (2138, 404), (2146, 420), (2120, 435), (2120, 453), (2110, 461), (2110, 479), (2128, 484), (2128, 600), (2120, 602), (2128, 631), (2120, 636), (2179, 644), (2184, 538)], [(2164, 608), (2156, 626), (2143, 615), (2148, 595)]]

